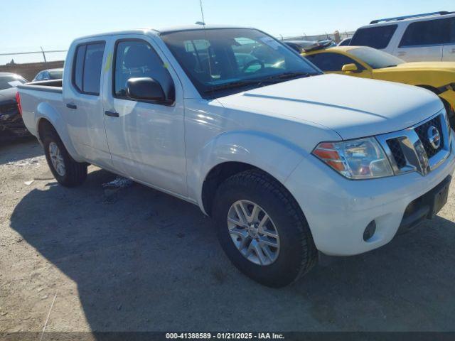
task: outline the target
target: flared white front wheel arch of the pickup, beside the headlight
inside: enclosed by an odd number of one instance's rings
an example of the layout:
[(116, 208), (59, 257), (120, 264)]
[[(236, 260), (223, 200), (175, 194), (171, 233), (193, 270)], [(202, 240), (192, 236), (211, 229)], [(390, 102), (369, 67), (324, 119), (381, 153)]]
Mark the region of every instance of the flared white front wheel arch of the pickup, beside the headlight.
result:
[[(220, 163), (240, 162), (255, 166), (284, 184), (308, 153), (278, 136), (260, 131), (229, 131), (211, 139), (188, 167), (188, 190), (205, 212), (202, 188), (208, 173)], [(206, 212), (205, 212), (206, 213)]]

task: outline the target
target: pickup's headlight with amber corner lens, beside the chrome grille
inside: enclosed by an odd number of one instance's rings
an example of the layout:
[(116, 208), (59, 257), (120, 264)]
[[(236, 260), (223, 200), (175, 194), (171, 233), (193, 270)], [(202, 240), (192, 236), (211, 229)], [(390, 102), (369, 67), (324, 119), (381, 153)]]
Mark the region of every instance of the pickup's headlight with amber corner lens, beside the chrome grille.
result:
[(392, 166), (373, 137), (341, 142), (323, 142), (312, 152), (323, 163), (349, 179), (393, 175)]

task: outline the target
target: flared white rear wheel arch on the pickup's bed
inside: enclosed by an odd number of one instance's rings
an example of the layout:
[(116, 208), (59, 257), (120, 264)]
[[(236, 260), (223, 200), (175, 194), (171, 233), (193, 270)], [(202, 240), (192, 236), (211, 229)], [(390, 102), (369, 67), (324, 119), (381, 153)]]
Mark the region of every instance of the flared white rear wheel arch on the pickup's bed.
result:
[[(85, 162), (85, 160), (77, 154), (73, 146), (73, 141), (70, 139), (70, 135), (68, 134), (68, 129), (62, 115), (48, 102), (41, 102), (36, 107), (36, 131), (39, 131), (38, 128), (42, 119), (46, 119), (50, 122), (50, 124), (53, 125), (55, 131), (57, 131), (58, 136), (65, 145), (68, 153), (70, 153), (70, 156), (77, 162)], [(37, 137), (38, 141), (43, 144), (43, 141), (41, 141), (39, 134), (37, 134)]]

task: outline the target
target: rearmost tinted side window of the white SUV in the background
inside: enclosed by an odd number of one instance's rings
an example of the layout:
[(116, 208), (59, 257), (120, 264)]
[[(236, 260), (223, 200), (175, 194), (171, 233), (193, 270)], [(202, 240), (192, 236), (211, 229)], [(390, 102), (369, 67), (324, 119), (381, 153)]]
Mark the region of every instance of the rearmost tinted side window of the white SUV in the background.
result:
[(350, 40), (349, 45), (370, 46), (370, 48), (379, 49), (387, 48), (396, 30), (397, 25), (359, 28)]

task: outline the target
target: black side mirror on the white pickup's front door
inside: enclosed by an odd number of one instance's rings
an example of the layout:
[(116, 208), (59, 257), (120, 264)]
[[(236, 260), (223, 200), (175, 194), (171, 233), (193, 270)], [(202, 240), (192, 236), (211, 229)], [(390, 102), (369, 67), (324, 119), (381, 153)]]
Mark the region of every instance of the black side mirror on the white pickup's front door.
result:
[(166, 102), (161, 84), (151, 77), (129, 78), (127, 81), (127, 96), (149, 102)]

